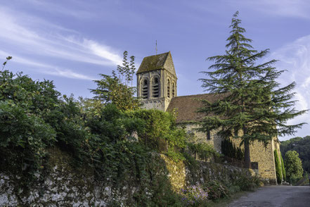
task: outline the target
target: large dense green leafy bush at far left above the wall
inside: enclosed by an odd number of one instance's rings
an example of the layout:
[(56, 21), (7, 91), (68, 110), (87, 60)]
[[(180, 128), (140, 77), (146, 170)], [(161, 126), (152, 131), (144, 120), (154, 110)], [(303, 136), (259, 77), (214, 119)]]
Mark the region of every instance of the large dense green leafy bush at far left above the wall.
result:
[(53, 82), (33, 81), (22, 73), (0, 72), (1, 168), (25, 175), (42, 168), (46, 148), (56, 141), (47, 115), (58, 105)]

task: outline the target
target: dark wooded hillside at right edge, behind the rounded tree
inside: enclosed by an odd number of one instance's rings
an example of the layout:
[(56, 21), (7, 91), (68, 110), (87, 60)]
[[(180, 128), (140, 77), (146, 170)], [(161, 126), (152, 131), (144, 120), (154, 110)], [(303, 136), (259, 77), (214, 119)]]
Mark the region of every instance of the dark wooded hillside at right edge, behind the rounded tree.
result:
[(302, 160), (302, 168), (310, 172), (310, 136), (295, 137), (281, 142), (281, 154), (284, 157), (287, 151), (297, 151)]

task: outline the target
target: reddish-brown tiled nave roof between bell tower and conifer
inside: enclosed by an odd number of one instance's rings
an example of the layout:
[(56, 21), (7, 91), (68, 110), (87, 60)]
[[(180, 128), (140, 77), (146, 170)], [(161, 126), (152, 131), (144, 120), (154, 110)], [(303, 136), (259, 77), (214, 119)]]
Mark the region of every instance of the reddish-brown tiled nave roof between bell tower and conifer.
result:
[(205, 115), (202, 113), (197, 113), (198, 108), (202, 107), (202, 102), (199, 101), (199, 99), (205, 99), (207, 101), (214, 102), (223, 96), (223, 94), (176, 96), (170, 101), (167, 111), (171, 112), (174, 110), (174, 108), (176, 108), (176, 123), (200, 121)]

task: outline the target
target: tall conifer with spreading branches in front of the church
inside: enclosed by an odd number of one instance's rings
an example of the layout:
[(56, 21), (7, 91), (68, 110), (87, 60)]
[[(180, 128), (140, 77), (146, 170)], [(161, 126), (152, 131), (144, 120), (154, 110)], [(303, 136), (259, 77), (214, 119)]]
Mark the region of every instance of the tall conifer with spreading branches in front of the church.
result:
[[(221, 97), (217, 101), (202, 100), (200, 108), (205, 118), (200, 130), (218, 129), (223, 137), (237, 137), (245, 147), (245, 168), (250, 168), (250, 142), (258, 140), (267, 144), (273, 137), (294, 134), (304, 123), (287, 125), (287, 121), (306, 111), (297, 111), (292, 100), (295, 82), (280, 87), (276, 78), (283, 70), (276, 70), (276, 60), (260, 63), (259, 59), (269, 53), (254, 50), (240, 27), (238, 11), (231, 21), (224, 55), (212, 56), (214, 61), (204, 71), (207, 78), (200, 79), (205, 91)], [(259, 63), (258, 63), (259, 62)], [(235, 130), (242, 135), (233, 136)]]

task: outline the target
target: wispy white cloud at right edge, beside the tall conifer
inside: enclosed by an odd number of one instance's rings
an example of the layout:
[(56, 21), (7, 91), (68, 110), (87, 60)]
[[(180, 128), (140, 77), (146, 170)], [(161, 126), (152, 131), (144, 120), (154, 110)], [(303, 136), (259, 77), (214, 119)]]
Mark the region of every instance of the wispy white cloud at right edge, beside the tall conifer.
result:
[[(297, 110), (309, 109), (310, 103), (310, 35), (299, 38), (290, 44), (286, 44), (271, 54), (271, 58), (280, 60), (276, 63), (277, 68), (286, 69), (288, 72), (281, 75), (279, 81), (283, 85), (296, 82), (295, 105)], [(307, 123), (310, 114), (306, 113), (290, 120), (288, 124)], [(309, 134), (310, 125), (304, 125), (297, 135), (304, 137)]]

